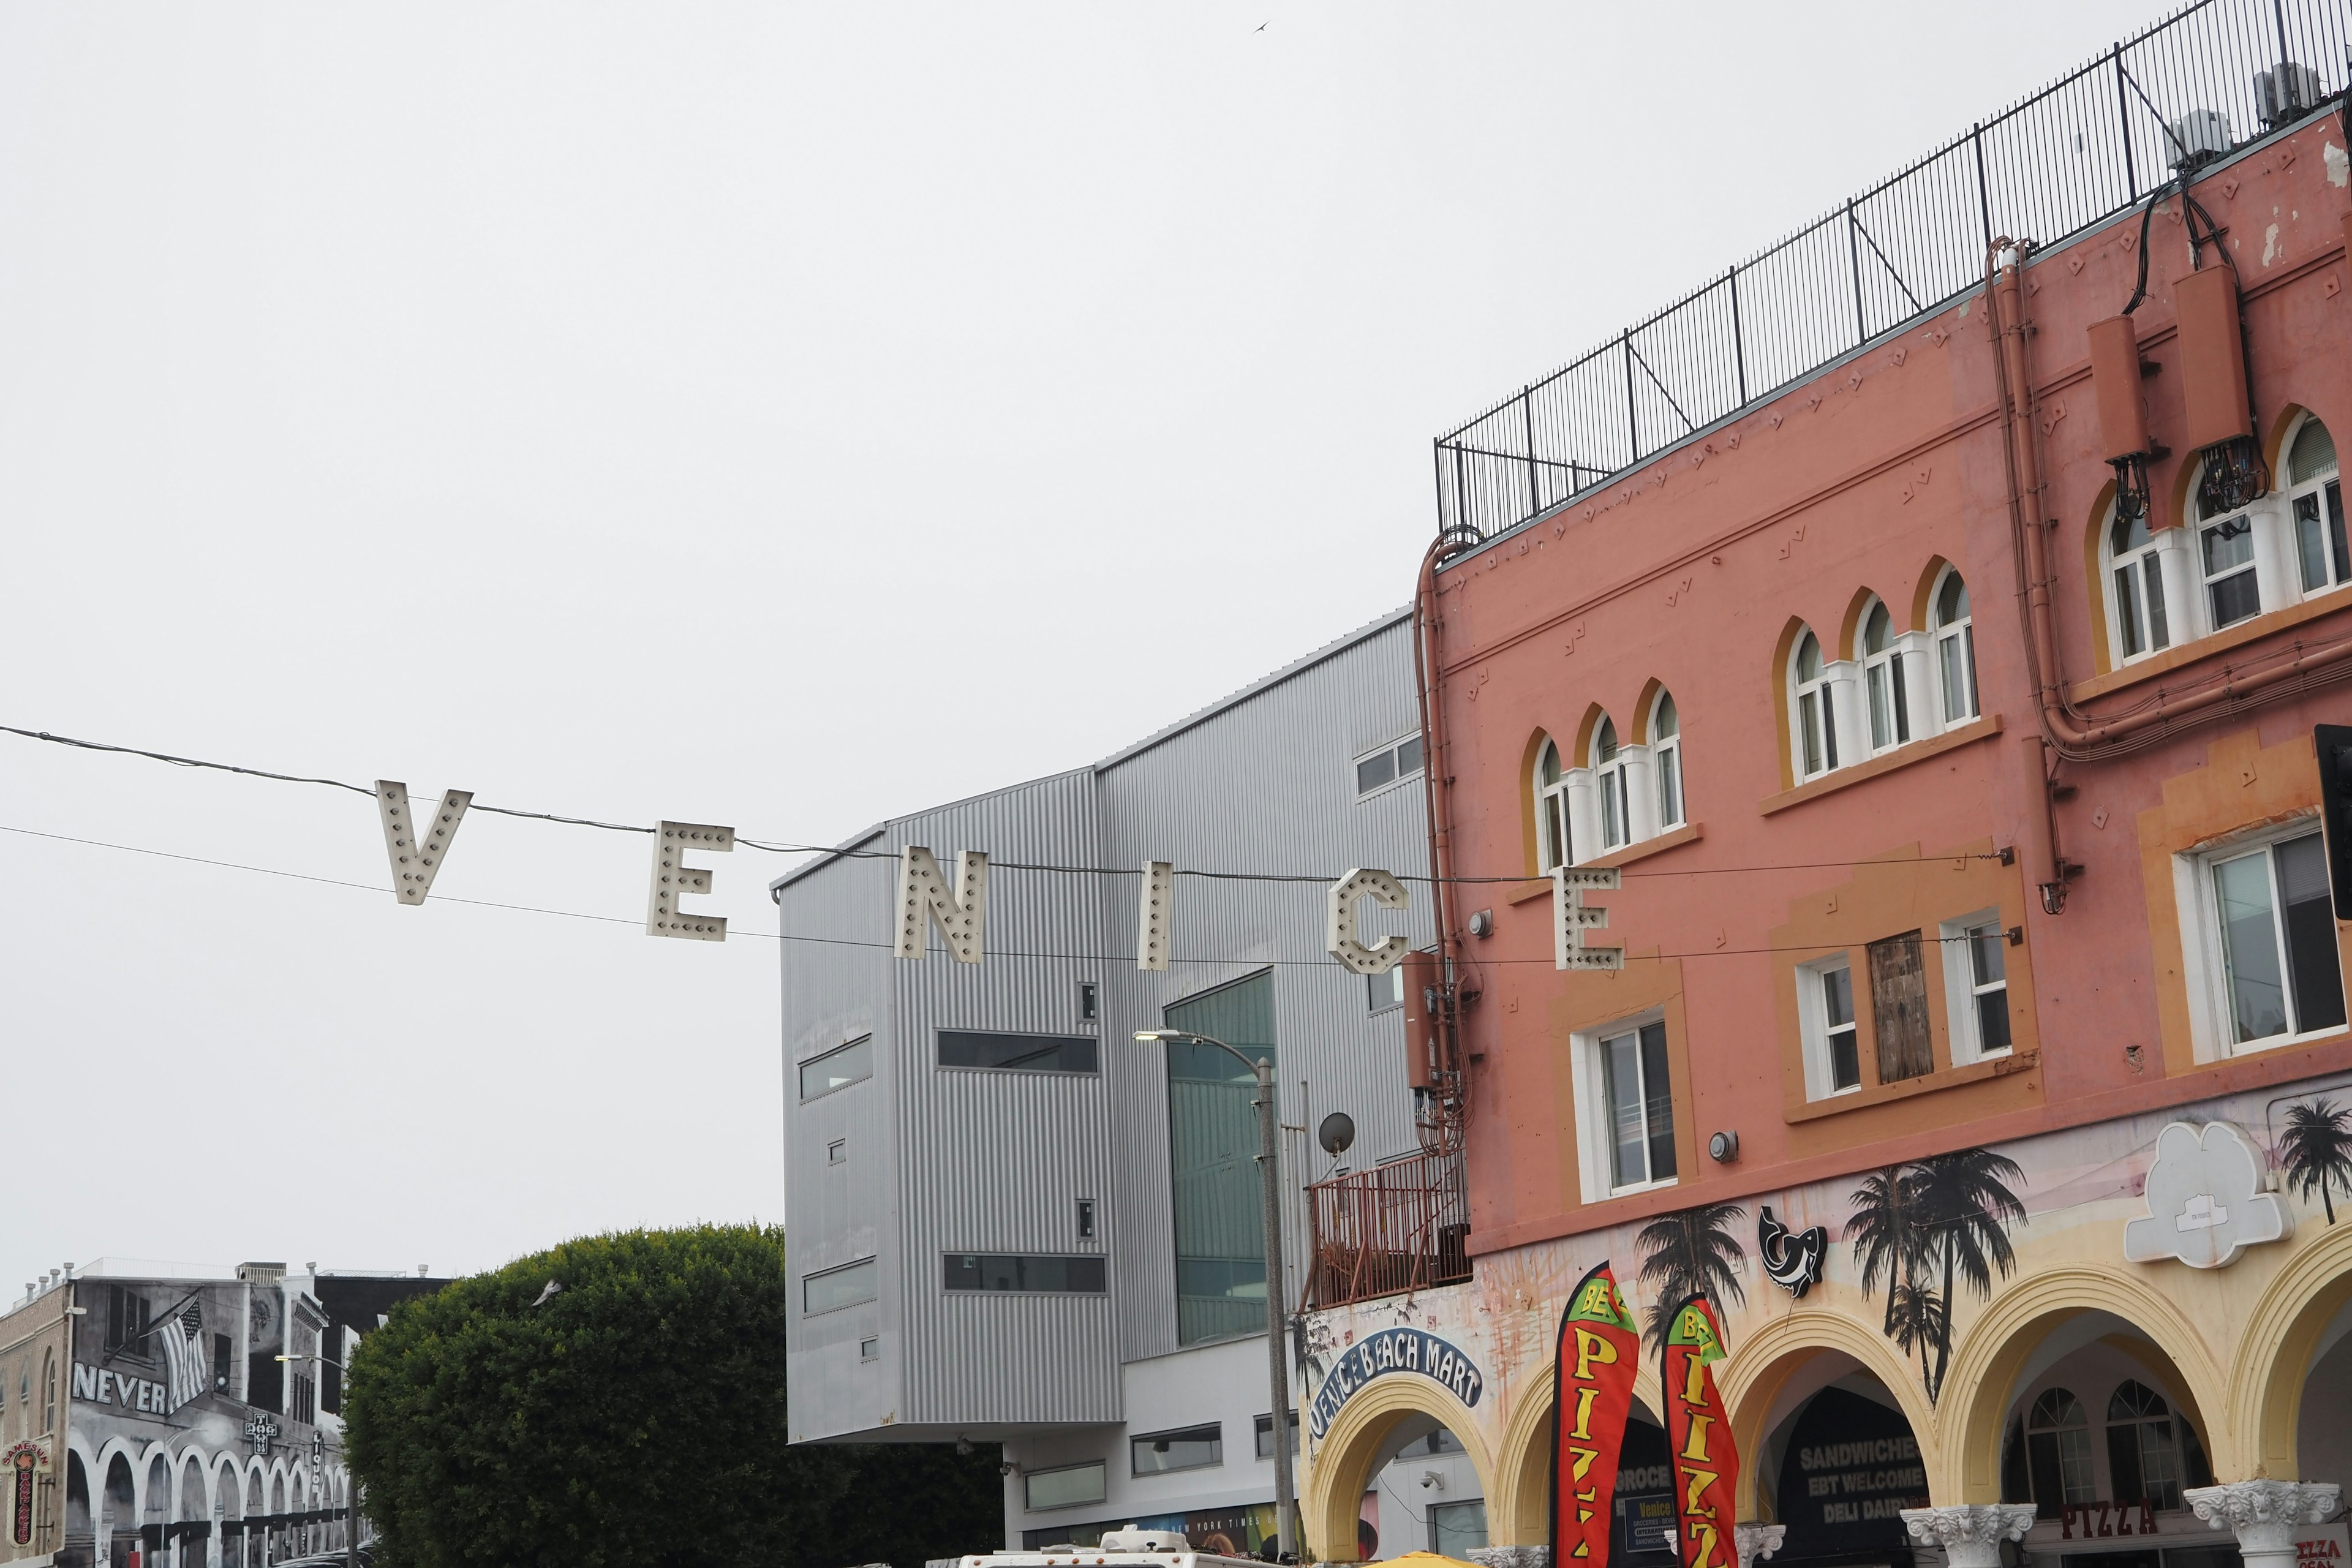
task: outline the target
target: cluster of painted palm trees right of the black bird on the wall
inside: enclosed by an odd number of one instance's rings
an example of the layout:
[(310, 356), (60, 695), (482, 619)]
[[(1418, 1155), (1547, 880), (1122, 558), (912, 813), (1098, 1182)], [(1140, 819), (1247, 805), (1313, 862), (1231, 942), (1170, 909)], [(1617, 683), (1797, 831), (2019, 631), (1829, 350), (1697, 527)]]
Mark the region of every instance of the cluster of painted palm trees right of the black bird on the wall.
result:
[(1952, 1288), (1983, 1300), (1992, 1276), (2009, 1279), (2018, 1255), (2009, 1227), (2025, 1222), (2011, 1182), (2023, 1166), (1992, 1150), (1955, 1150), (1907, 1166), (1886, 1166), (1853, 1190), (1846, 1237), (1863, 1272), (1863, 1298), (1886, 1288), (1886, 1338), (1919, 1352), (1926, 1396), (1943, 1392), (1952, 1359)]

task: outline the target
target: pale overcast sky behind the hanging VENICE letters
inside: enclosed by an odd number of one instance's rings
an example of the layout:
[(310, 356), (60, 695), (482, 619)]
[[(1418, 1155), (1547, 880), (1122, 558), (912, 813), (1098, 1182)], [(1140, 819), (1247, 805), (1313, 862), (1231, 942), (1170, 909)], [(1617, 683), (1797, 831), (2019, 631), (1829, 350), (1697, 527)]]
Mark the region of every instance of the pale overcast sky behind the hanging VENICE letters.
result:
[[(1430, 437), (2150, 5), (0, 7), (0, 724), (833, 842), (1402, 604)], [(0, 1291), (781, 1215), (771, 856), (0, 736)], [(884, 912), (873, 931), (880, 936)]]

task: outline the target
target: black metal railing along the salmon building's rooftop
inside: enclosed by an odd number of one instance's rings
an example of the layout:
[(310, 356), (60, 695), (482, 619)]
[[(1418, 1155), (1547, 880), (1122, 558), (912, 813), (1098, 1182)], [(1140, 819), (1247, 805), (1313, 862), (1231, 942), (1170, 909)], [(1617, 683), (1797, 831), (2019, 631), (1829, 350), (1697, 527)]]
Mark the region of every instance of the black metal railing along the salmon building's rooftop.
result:
[[(2197, 0), (1437, 437), (1437, 527), (1491, 538), (2343, 92), (2345, 0)], [(2281, 63), (2284, 61), (2284, 63)]]

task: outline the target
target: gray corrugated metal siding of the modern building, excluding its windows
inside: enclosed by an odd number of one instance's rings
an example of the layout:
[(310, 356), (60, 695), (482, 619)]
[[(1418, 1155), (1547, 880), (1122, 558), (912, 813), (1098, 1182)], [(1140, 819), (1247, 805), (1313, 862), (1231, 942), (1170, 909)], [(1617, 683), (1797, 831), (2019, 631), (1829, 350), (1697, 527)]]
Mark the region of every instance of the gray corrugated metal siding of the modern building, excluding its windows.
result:
[[(788, 938), (873, 943), (783, 943), (793, 1274), (858, 1248), (882, 1258), (875, 1305), (795, 1321), (795, 1436), (1122, 1418), (1117, 1363), (1176, 1349), (1167, 1058), (1134, 1039), (1174, 1001), (1272, 966), (1282, 1119), (1350, 1112), (1355, 1166), (1414, 1147), (1402, 1011), (1369, 1016), (1364, 980), (1322, 952), (1322, 884), (1183, 877), (1178, 961), (1141, 973), (1138, 879), (1124, 875), (1148, 858), (1192, 870), (1423, 872), (1418, 780), (1355, 799), (1355, 757), (1416, 726), (1409, 637), (1409, 623), (1390, 621), (1101, 769), (887, 823), (866, 849), (924, 844), (950, 875), (957, 849), (985, 849), (995, 863), (1112, 867), (1098, 877), (995, 865), (985, 964), (955, 964), (936, 938), (920, 964), (889, 957), (891, 860), (833, 860), (781, 889)], [(1425, 889), (1414, 900), (1406, 917), (1367, 910), (1369, 933), (1402, 929), (1425, 945)], [(1096, 1025), (1077, 1016), (1082, 980), (1101, 987)], [(875, 1079), (797, 1105), (793, 1067), (868, 1027)], [(941, 1070), (941, 1027), (1091, 1032), (1101, 1072)], [(823, 1164), (826, 1143), (844, 1133), (847, 1178)], [(1298, 1182), (1329, 1164), (1317, 1152), (1298, 1171), (1308, 1147), (1287, 1135), (1291, 1302), (1303, 1281)], [(1091, 1241), (1077, 1239), (1077, 1199), (1098, 1204)], [(1105, 1253), (1110, 1295), (950, 1295), (948, 1251)], [(882, 1338), (880, 1363), (858, 1363), (866, 1335)]]

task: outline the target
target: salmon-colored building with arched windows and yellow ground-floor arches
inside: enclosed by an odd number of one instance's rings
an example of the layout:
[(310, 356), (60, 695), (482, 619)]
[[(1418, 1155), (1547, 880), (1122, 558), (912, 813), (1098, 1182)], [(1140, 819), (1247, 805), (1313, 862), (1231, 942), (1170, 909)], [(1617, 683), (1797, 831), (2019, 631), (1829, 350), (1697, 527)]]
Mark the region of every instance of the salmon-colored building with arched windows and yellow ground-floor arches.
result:
[[(1468, 1267), (1319, 1237), (1317, 1552), (1432, 1425), (1548, 1540), (1606, 1260), (1722, 1314), (1748, 1561), (2343, 1559), (2343, 28), (2190, 7), (1439, 442)], [(1621, 1568), (1672, 1561), (1644, 1354)]]

